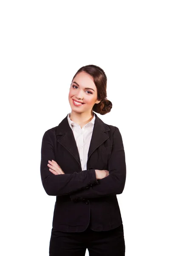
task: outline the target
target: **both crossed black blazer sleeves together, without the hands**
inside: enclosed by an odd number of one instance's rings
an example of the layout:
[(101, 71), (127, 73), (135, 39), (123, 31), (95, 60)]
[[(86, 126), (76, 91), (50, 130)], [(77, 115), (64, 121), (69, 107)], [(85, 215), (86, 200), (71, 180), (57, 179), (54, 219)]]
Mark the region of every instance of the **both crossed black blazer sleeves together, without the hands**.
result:
[(118, 128), (113, 133), (113, 150), (108, 160), (109, 175), (101, 180), (96, 180), (95, 169), (54, 175), (47, 166), (50, 159), (55, 159), (54, 148), (51, 137), (46, 131), (42, 138), (40, 172), (42, 185), (48, 195), (70, 195), (72, 201), (78, 201), (82, 198), (99, 198), (123, 192), (126, 163), (122, 136)]

